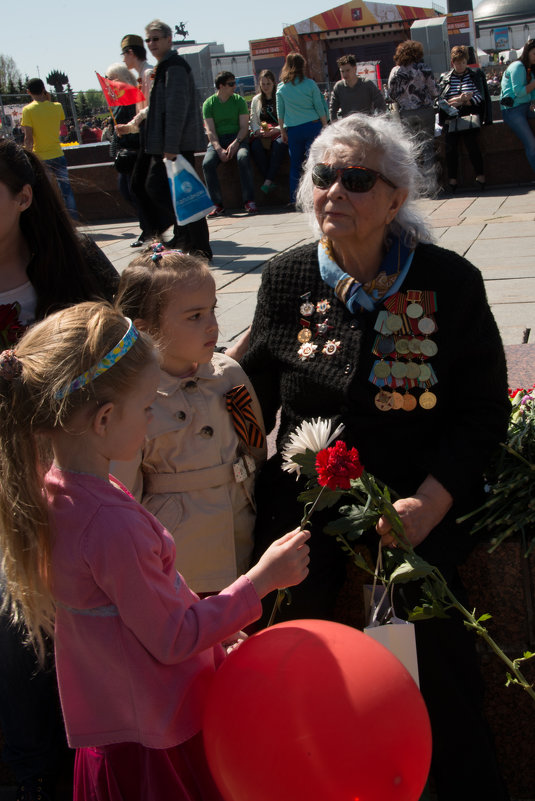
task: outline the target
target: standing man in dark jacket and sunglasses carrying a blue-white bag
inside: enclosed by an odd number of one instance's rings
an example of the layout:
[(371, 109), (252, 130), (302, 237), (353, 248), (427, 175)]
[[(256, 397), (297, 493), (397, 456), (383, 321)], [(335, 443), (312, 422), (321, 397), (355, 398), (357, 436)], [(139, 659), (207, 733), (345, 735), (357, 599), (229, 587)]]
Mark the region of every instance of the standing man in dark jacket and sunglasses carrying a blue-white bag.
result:
[(145, 43), (157, 66), (150, 94), (145, 127), (145, 152), (150, 157), (143, 190), (151, 233), (161, 235), (171, 225), (173, 238), (168, 246), (186, 253), (212, 258), (206, 219), (177, 225), (169, 182), (163, 159), (174, 160), (180, 154), (195, 163), (195, 151), (203, 146), (200, 103), (191, 67), (173, 49), (169, 25), (153, 20), (145, 28)]

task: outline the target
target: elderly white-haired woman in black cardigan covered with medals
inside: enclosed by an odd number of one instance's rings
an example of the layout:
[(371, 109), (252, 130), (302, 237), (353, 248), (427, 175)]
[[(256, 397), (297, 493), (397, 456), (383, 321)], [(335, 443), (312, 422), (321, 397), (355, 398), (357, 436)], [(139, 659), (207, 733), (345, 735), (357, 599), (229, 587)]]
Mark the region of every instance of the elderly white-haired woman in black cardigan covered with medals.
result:
[[(399, 122), (363, 114), (314, 141), (298, 204), (320, 241), (265, 268), (242, 364), (268, 430), (281, 408), (279, 449), (305, 419), (344, 423), (363, 464), (398, 493), (418, 553), (462, 597), (456, 565), (473, 540), (455, 520), (479, 502), (505, 434), (506, 369), (479, 271), (431, 244), (416, 205), (415, 147)], [(259, 550), (302, 513), (300, 485), (280, 464), (277, 454), (258, 481)], [(312, 518), (310, 576), (286, 616), (333, 617), (344, 557), (322, 533), (325, 515)], [(391, 543), (385, 521), (379, 534)], [(420, 597), (414, 584), (404, 592), (399, 612)], [(439, 799), (504, 801), (470, 634), (454, 617), (416, 626)]]

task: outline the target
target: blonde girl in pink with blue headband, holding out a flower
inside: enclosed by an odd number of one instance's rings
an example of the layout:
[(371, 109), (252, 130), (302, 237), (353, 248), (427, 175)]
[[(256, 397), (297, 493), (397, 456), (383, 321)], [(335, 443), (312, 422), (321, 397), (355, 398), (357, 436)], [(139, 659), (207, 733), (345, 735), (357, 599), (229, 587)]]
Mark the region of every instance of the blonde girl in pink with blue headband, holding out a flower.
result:
[(159, 376), (148, 335), (101, 303), (0, 354), (6, 590), (38, 652), (55, 636), (75, 801), (219, 801), (207, 687), (260, 599), (308, 572), (295, 531), (218, 595), (188, 588), (171, 536), (108, 472), (141, 446)]

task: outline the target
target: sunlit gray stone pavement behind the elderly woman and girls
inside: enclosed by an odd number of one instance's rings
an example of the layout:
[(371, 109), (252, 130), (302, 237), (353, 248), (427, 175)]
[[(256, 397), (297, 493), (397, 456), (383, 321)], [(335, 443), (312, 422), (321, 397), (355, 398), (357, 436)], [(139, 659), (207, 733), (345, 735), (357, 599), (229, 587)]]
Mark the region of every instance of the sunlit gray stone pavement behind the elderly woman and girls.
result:
[[(481, 270), (505, 345), (521, 344), (526, 329), (535, 341), (535, 186), (459, 193), (426, 199), (439, 245), (460, 253)], [(249, 217), (241, 211), (209, 221), (218, 290), (220, 344), (228, 345), (252, 320), (263, 265), (277, 253), (312, 241), (306, 217), (286, 209)], [(135, 222), (84, 229), (121, 271), (138, 251)]]

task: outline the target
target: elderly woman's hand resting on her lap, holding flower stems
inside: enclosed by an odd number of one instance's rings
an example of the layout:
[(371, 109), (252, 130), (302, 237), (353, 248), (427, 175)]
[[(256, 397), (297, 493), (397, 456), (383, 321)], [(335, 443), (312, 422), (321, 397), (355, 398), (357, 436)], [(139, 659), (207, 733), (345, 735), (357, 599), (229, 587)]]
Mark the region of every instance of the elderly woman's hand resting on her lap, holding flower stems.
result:
[[(400, 498), (394, 503), (413, 548), (423, 542), (429, 532), (440, 523), (452, 503), (453, 498), (448, 490), (431, 475), (427, 476), (413, 496)], [(381, 517), (376, 529), (383, 545), (395, 545), (396, 538), (386, 517)]]

